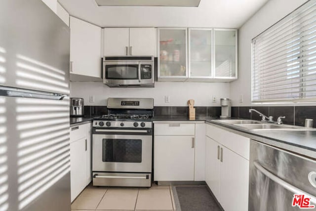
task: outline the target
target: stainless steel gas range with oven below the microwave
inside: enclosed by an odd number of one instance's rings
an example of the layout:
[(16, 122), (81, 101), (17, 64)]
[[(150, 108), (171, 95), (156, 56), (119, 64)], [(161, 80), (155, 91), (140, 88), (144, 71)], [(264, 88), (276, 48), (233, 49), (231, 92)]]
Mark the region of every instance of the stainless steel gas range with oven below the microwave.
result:
[(150, 187), (154, 99), (108, 98), (107, 107), (93, 119), (93, 185)]

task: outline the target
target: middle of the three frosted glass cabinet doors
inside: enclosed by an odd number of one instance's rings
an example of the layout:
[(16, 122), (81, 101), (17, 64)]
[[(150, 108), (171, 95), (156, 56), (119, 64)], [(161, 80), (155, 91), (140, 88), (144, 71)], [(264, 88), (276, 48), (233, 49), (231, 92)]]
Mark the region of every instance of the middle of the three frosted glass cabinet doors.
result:
[(212, 77), (212, 30), (189, 29), (189, 78)]

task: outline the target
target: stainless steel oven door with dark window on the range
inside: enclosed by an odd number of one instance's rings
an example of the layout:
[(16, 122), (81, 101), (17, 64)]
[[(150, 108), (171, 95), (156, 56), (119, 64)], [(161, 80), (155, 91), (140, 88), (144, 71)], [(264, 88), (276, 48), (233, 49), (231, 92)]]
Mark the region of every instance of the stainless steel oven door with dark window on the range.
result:
[(92, 135), (92, 170), (151, 172), (151, 135)]

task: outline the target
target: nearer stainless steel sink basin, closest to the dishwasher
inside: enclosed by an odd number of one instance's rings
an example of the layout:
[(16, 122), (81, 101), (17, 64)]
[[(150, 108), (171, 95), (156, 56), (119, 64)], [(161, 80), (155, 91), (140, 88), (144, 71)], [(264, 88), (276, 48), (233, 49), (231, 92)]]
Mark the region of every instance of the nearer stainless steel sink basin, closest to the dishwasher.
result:
[(235, 126), (249, 130), (311, 130), (311, 128), (306, 127), (274, 124), (236, 124)]

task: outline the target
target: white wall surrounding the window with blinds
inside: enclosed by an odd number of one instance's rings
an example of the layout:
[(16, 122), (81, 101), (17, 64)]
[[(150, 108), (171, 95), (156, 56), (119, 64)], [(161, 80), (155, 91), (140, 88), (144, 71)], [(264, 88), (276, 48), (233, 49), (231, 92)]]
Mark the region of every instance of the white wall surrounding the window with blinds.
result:
[[(250, 106), (252, 104), (251, 40), (306, 1), (307, 0), (269, 0), (253, 17), (251, 17), (239, 29), (238, 80), (232, 82), (230, 88), (230, 95), (233, 106)], [(239, 102), (240, 94), (243, 95), (243, 103)]]

